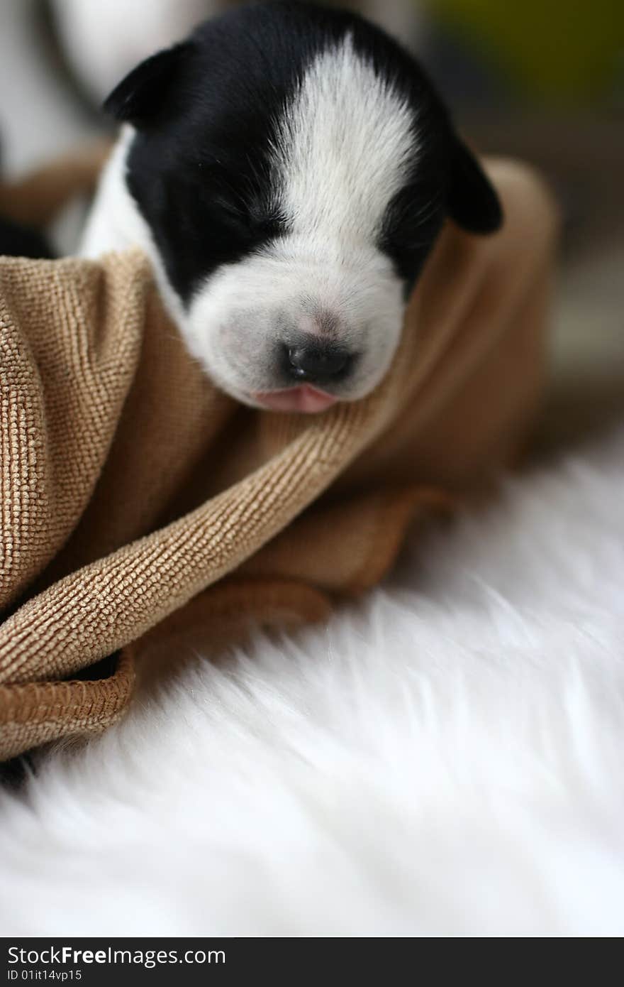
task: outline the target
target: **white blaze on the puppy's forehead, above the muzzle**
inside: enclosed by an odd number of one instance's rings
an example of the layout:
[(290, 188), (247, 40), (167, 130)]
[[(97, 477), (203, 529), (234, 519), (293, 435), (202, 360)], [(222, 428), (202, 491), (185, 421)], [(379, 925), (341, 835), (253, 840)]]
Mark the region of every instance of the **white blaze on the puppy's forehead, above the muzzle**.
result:
[(312, 62), (278, 121), (280, 204), (298, 244), (374, 247), (416, 155), (413, 110), (350, 36)]

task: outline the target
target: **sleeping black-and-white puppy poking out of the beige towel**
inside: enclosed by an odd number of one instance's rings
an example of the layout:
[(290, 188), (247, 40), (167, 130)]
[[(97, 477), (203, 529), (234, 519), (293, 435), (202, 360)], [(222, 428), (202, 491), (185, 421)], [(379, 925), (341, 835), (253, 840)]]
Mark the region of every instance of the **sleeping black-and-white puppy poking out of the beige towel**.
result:
[(140, 64), (105, 109), (125, 126), (83, 253), (143, 248), (190, 352), (247, 405), (368, 394), (445, 219), (501, 223), (422, 69), (354, 14), (237, 8)]

